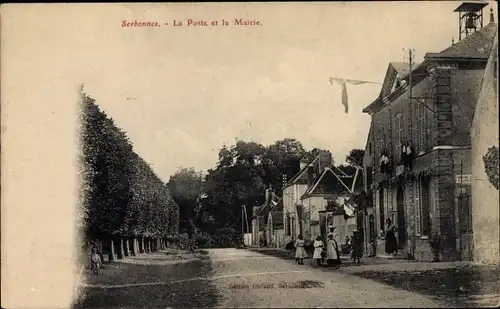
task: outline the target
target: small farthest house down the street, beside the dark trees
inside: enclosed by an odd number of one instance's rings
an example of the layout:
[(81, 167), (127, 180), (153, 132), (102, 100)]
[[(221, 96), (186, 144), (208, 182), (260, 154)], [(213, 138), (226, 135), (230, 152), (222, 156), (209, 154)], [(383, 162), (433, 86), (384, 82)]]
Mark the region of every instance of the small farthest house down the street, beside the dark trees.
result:
[(266, 200), (252, 208), (252, 241), (256, 246), (281, 248), (283, 244), (283, 199), (272, 187), (266, 189)]

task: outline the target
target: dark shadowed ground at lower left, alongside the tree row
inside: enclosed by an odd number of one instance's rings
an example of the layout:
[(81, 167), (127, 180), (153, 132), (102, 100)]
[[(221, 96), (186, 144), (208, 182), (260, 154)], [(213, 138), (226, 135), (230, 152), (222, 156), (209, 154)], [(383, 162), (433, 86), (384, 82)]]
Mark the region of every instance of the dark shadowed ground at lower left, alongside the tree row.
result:
[(100, 276), (90, 277), (89, 284), (121, 285), (166, 282), (151, 286), (119, 288), (86, 287), (85, 298), (73, 308), (210, 308), (217, 304), (218, 293), (208, 280), (167, 283), (209, 277), (209, 260), (175, 265), (108, 264)]

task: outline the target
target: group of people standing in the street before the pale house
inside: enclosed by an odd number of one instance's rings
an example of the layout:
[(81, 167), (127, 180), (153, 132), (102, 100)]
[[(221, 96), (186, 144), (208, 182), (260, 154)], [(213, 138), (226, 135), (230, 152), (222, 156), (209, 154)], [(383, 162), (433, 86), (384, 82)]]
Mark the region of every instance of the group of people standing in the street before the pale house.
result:
[[(297, 238), (298, 239), (295, 242), (295, 262), (299, 265), (304, 265), (304, 259), (307, 258), (307, 253), (304, 248), (305, 241), (302, 235), (299, 235)], [(321, 236), (317, 236), (313, 247), (313, 260), (316, 261), (318, 266), (323, 265), (325, 259), (328, 266), (339, 266), (341, 264), (339, 246), (335, 240), (333, 231), (331, 231), (327, 236), (326, 246), (323, 243)], [(362, 255), (363, 252), (360, 234), (358, 231), (354, 231), (351, 258), (355, 263), (359, 264), (361, 262)]]

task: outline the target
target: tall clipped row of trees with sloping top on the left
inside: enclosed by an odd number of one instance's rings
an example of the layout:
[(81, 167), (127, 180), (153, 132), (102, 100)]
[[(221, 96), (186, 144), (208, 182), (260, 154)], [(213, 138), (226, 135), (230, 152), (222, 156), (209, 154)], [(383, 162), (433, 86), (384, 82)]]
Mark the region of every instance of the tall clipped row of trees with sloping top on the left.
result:
[(86, 239), (177, 235), (179, 208), (166, 184), (94, 99), (82, 93), (81, 102), (80, 221)]

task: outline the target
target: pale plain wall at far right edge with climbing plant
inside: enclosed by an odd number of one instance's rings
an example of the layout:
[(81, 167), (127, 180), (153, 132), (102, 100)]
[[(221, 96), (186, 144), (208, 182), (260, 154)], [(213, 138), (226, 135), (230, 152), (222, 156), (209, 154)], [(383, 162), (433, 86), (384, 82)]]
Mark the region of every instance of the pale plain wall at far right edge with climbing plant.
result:
[[(500, 260), (499, 194), (498, 194), (498, 39), (485, 70), (481, 94), (472, 125), (472, 224), (474, 260), (498, 263)], [(496, 149), (496, 163), (485, 157)], [(486, 159), (486, 160), (485, 160)], [(496, 175), (495, 175), (496, 173)], [(495, 178), (496, 176), (496, 178)], [(496, 182), (495, 182), (496, 179)]]

